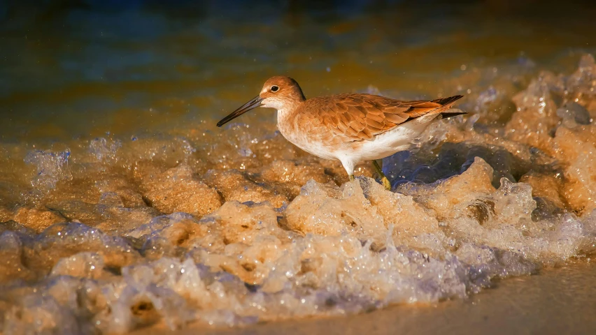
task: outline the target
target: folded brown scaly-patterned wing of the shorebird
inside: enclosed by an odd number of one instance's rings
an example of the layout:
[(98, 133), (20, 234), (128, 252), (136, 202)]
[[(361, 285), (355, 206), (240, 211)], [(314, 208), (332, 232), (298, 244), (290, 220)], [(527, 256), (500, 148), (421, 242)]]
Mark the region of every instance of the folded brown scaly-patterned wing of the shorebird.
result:
[(433, 101), (397, 101), (370, 94), (339, 94), (313, 98), (308, 110), (318, 111), (320, 123), (353, 141), (371, 140), (406, 121), (448, 110), (462, 96)]

